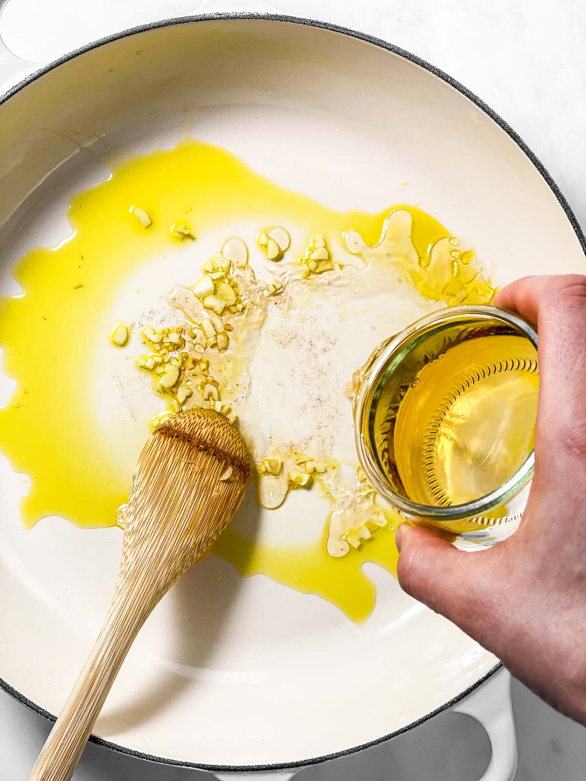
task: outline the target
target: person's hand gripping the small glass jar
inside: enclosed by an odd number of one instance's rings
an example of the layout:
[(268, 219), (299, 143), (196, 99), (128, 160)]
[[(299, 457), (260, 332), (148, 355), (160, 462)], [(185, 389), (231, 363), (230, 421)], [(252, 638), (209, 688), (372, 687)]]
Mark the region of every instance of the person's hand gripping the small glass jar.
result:
[(495, 305), (539, 333), (535, 471), (520, 529), (471, 555), (403, 523), (398, 581), (586, 724), (586, 276), (528, 276)]

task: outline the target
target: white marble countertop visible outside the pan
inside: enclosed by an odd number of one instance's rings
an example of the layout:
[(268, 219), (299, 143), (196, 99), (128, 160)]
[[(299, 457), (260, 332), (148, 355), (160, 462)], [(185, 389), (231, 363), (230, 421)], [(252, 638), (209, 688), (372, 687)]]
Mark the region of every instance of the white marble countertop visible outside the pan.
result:
[[(199, 0), (11, 0), (0, 30), (37, 62), (96, 37), (194, 12)], [(234, 6), (234, 0), (229, 3)], [(245, 3), (243, 3), (245, 5)], [(281, 12), (334, 21), (383, 37), (433, 62), (501, 114), (538, 155), (586, 227), (586, 5), (582, 0), (273, 0)], [(218, 3), (220, 7), (220, 3)], [(308, 704), (309, 707), (309, 704)], [(583, 781), (586, 729), (513, 681), (519, 744), (516, 781)], [(0, 781), (27, 777), (48, 724), (0, 692)], [(305, 769), (299, 781), (476, 781), (488, 737), (462, 715), (445, 714), (352, 758)], [(195, 781), (89, 746), (75, 781)]]

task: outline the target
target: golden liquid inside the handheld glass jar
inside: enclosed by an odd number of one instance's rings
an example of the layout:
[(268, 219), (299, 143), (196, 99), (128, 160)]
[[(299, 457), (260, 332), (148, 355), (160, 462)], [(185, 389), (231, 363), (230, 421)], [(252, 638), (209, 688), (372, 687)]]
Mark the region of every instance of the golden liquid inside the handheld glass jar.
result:
[(396, 469), (423, 505), (474, 501), (498, 488), (534, 446), (537, 351), (524, 337), (455, 344), (424, 366), (398, 407)]

